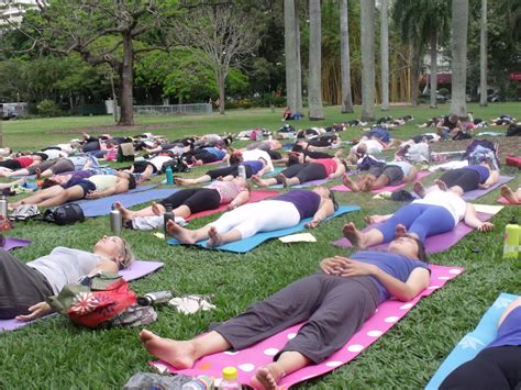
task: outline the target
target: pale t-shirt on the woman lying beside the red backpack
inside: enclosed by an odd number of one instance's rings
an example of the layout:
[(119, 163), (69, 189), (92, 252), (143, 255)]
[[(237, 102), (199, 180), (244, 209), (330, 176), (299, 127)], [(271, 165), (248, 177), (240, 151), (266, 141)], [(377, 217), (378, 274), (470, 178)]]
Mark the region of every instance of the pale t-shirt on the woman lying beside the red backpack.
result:
[(57, 294), (65, 285), (75, 283), (89, 274), (100, 257), (90, 252), (57, 246), (47, 256), (29, 261), (27, 266), (41, 272)]

